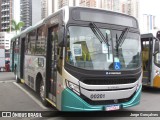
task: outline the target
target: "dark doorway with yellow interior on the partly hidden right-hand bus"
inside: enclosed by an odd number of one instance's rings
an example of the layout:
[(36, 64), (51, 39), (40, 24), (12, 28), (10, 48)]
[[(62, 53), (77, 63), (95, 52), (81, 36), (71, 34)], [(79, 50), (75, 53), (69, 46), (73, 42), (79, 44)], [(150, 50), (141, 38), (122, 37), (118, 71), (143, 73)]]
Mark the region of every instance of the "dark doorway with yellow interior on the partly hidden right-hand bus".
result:
[(142, 63), (143, 63), (143, 85), (151, 84), (153, 38), (146, 37), (141, 40)]

